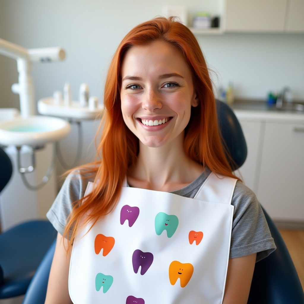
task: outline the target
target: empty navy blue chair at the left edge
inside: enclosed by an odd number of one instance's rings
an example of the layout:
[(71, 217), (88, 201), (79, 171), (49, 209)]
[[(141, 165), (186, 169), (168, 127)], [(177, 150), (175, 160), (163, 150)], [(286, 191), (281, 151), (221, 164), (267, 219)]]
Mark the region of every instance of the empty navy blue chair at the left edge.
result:
[[(11, 175), (12, 162), (0, 147), (0, 192)], [(26, 293), (37, 267), (56, 236), (56, 230), (47, 220), (21, 223), (0, 234), (0, 299)]]

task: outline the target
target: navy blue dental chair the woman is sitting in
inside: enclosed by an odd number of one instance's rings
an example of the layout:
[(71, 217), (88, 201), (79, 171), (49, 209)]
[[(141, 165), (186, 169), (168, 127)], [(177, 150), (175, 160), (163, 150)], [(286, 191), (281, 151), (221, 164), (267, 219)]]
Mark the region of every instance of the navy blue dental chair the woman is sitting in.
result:
[[(234, 170), (247, 156), (247, 146), (240, 124), (233, 111), (223, 102), (216, 101), (219, 127), (224, 145), (233, 161)], [(255, 265), (249, 304), (301, 304), (304, 294), (294, 264), (285, 243), (274, 223), (263, 209), (277, 249)], [(46, 296), (48, 275), (55, 251), (52, 244), (34, 275), (23, 304), (43, 304)]]

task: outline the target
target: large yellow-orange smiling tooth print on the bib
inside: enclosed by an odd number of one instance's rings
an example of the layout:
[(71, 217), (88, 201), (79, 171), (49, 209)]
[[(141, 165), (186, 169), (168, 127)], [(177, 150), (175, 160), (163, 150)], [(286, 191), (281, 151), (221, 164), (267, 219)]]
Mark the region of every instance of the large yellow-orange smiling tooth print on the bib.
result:
[(177, 279), (180, 279), (181, 287), (185, 287), (193, 275), (194, 268), (190, 263), (181, 263), (173, 261), (169, 266), (169, 280), (171, 285), (175, 285)]

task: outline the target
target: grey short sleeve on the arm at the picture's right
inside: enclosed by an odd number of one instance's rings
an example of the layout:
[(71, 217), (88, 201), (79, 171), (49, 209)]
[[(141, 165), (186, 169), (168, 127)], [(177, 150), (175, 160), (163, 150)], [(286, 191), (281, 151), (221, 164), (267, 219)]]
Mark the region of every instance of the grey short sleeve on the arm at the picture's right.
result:
[(230, 258), (253, 253), (257, 253), (256, 261), (267, 257), (276, 246), (254, 192), (237, 181), (231, 203), (235, 209)]

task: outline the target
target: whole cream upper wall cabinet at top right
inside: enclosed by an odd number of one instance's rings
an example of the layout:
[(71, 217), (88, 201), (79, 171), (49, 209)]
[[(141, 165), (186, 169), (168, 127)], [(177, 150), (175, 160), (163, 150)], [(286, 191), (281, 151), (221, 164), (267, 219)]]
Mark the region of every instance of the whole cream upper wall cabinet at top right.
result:
[(304, 0), (226, 0), (226, 32), (304, 33)]

